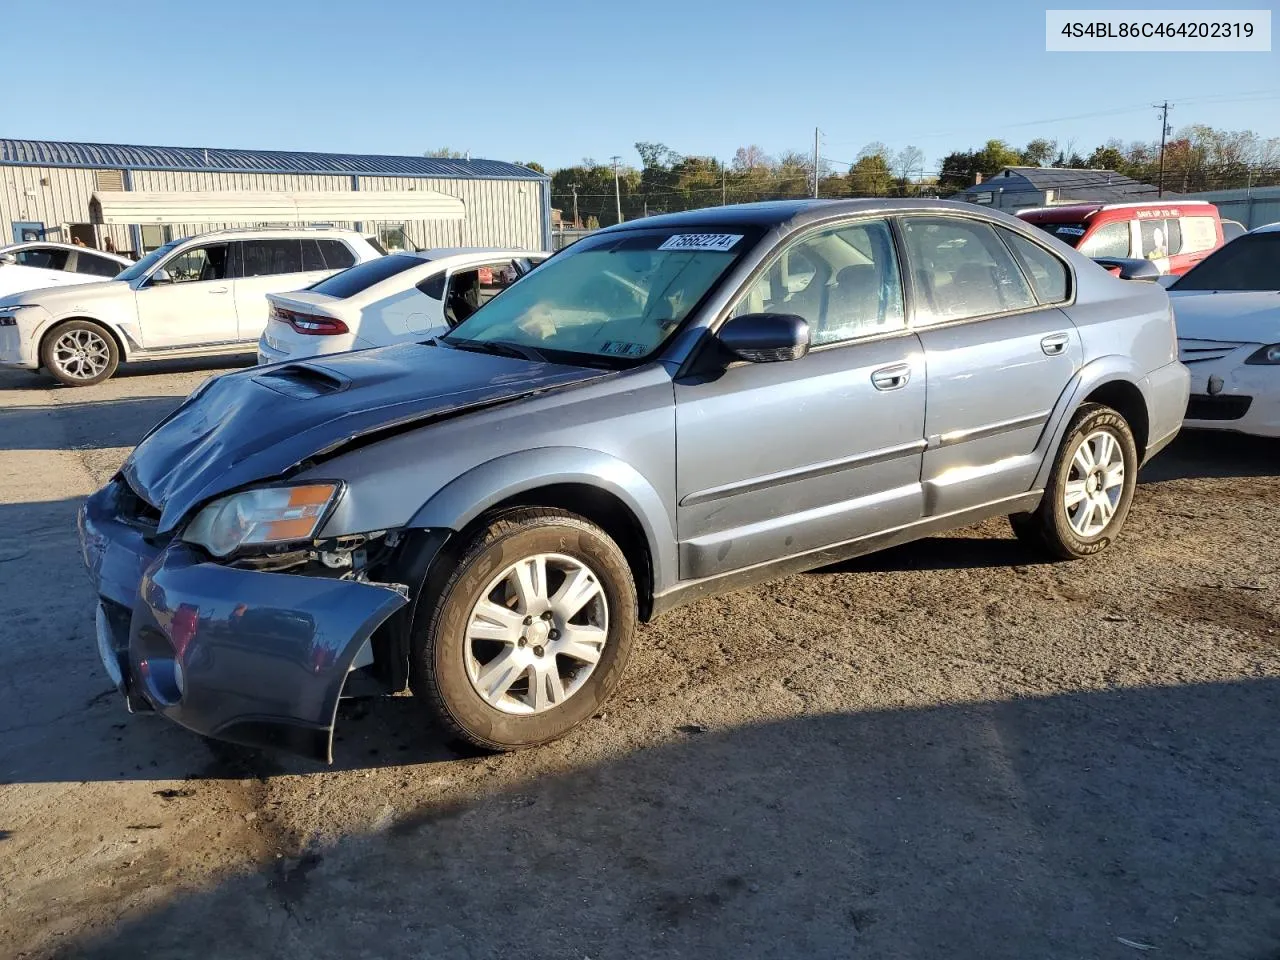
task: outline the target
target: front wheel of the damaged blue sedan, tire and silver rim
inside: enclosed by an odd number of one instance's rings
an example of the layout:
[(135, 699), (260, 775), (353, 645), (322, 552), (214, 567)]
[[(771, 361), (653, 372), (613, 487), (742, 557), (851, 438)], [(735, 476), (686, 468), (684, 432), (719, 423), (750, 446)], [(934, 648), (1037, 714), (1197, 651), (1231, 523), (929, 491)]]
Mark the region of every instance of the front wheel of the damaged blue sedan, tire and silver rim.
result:
[[(575, 599), (562, 596), (571, 580)], [(413, 694), (445, 731), (485, 750), (545, 744), (596, 713), (622, 677), (637, 620), (618, 545), (581, 517), (540, 507), (497, 515), (421, 603), (429, 613), (412, 637)]]

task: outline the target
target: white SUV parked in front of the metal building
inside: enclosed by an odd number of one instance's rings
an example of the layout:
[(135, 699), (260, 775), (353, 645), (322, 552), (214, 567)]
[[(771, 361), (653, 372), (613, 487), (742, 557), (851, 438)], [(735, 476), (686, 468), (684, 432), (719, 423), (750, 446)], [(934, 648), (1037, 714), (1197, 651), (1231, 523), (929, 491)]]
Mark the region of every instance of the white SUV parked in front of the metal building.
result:
[(122, 361), (251, 353), (266, 294), (306, 287), (381, 253), (349, 230), (219, 230), (151, 251), (111, 280), (0, 297), (0, 365), (68, 387)]

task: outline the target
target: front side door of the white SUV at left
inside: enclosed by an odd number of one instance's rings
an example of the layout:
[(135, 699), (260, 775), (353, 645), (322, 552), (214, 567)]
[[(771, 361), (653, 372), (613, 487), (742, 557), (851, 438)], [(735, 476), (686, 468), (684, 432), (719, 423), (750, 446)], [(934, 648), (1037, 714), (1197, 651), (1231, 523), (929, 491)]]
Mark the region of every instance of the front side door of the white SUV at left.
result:
[[(146, 349), (204, 347), (237, 339), (228, 262), (227, 243), (187, 247), (143, 282), (134, 297)], [(163, 279), (165, 275), (168, 279)]]

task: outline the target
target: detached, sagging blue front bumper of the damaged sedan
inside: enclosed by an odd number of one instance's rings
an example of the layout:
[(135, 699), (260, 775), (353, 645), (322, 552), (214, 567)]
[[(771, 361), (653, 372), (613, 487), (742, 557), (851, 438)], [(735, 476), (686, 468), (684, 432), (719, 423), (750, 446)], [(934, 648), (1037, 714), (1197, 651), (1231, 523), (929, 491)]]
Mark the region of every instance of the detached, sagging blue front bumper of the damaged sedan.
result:
[(99, 653), (132, 709), (197, 733), (333, 759), (347, 673), (404, 605), (389, 589), (210, 562), (179, 540), (148, 539), (115, 480), (79, 511), (81, 549), (99, 593)]

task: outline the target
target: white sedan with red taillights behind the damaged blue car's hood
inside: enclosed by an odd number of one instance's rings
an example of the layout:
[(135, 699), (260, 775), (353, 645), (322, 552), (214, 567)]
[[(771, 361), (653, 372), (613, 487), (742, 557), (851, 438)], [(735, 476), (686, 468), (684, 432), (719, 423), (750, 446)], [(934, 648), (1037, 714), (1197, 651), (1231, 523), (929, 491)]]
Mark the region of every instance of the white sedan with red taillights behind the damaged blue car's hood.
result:
[(259, 364), (426, 339), (466, 320), (550, 253), (422, 250), (358, 264), (296, 293), (271, 293)]

